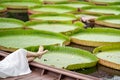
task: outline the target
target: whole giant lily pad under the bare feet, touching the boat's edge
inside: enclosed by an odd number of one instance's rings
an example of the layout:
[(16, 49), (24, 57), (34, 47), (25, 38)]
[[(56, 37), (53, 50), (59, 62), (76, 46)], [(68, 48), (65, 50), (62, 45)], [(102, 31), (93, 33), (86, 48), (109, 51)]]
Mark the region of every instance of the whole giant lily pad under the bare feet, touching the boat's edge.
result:
[[(35, 50), (34, 47), (27, 49)], [(82, 49), (60, 46), (45, 46), (45, 49), (48, 52), (41, 59), (37, 58), (35, 61), (57, 68), (69, 70), (88, 68), (95, 66), (98, 61), (96, 56)]]

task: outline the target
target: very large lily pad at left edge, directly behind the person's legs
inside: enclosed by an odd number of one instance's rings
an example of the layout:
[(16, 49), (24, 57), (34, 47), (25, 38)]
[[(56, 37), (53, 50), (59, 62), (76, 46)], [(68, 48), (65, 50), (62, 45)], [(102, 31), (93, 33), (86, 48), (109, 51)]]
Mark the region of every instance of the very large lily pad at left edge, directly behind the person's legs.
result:
[(0, 46), (25, 48), (36, 45), (67, 45), (69, 38), (58, 33), (37, 30), (0, 30)]

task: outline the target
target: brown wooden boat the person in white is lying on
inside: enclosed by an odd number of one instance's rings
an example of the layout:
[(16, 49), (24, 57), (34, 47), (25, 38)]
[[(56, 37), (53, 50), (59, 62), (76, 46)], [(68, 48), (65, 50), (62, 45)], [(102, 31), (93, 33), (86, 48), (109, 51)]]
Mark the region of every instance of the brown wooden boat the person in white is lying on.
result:
[[(7, 52), (0, 51), (0, 58), (2, 59), (8, 54)], [(100, 78), (58, 69), (36, 62), (31, 62), (30, 68), (32, 70), (30, 74), (5, 79), (0, 78), (0, 80), (102, 80)]]

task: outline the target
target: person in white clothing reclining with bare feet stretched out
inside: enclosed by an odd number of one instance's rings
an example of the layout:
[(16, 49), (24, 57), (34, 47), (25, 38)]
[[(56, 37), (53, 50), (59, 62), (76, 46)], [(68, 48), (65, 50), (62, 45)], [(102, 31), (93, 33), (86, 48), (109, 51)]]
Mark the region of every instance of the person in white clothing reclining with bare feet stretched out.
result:
[(0, 61), (0, 78), (14, 77), (31, 73), (29, 63), (36, 57), (46, 53), (43, 46), (39, 47), (38, 52), (30, 52), (25, 49), (18, 49)]

